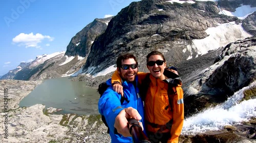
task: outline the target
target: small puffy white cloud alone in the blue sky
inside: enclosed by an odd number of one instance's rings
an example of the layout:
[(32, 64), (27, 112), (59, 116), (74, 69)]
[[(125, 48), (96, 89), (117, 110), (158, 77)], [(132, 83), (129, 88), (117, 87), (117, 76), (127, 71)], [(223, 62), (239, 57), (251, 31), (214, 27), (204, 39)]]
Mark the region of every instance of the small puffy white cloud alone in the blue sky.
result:
[(54, 38), (47, 36), (47, 35), (41, 35), (40, 33), (37, 34), (25, 34), (25, 33), (20, 33), (17, 35), (15, 38), (12, 39), (12, 42), (17, 43), (18, 46), (24, 46), (26, 48), (28, 47), (36, 47), (39, 48), (40, 46), (38, 43), (41, 43), (42, 40), (48, 39), (49, 41), (53, 41)]

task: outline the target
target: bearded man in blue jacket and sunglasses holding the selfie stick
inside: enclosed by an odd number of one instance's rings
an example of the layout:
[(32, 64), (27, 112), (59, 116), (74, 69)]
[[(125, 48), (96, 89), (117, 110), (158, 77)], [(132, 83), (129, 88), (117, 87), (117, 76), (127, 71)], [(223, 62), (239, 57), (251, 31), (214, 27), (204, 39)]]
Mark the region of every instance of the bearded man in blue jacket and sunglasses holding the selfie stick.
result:
[(142, 118), (141, 122), (142, 124), (144, 123), (143, 101), (139, 96), (138, 90), (138, 62), (133, 54), (125, 53), (117, 58), (116, 64), (118, 73), (122, 77), (124, 95), (122, 97), (113, 91), (111, 79), (106, 81), (110, 87), (99, 99), (99, 113), (105, 117), (106, 123), (108, 123), (111, 142), (133, 142), (132, 137), (125, 137), (117, 133), (114, 124), (119, 113), (125, 113), (124, 110), (129, 109), (128, 107), (137, 109)]

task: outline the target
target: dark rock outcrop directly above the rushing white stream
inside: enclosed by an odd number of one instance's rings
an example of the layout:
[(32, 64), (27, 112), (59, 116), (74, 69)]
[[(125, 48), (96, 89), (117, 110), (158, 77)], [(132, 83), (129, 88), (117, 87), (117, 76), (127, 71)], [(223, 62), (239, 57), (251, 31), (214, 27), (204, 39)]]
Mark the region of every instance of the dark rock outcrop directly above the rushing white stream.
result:
[(208, 68), (183, 80), (185, 116), (217, 105), (256, 80), (256, 37), (228, 44)]

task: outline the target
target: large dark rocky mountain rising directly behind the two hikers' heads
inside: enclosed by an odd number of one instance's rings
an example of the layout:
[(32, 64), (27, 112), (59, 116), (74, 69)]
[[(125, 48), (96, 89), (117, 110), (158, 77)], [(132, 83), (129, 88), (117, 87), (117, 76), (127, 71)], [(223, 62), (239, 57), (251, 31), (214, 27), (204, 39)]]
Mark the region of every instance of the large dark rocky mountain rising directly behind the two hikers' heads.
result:
[[(136, 56), (142, 57), (138, 61), (140, 70), (147, 71), (145, 56), (152, 50), (163, 52), (170, 65), (180, 65), (189, 58), (196, 58), (206, 53), (199, 51), (199, 48), (216, 50), (233, 42), (231, 39), (248, 37), (249, 35), (237, 32), (238, 36), (231, 38), (227, 33), (222, 37), (223, 42), (216, 47), (196, 45), (195, 40), (209, 36), (205, 31), (210, 27), (232, 21), (243, 23), (237, 17), (219, 14), (220, 9), (230, 9), (234, 1), (225, 1), (225, 4), (230, 4), (228, 6), (222, 3), (224, 1), (219, 2), (179, 4), (163, 0), (146, 0), (131, 3), (109, 22), (106, 31), (94, 41), (83, 71), (97, 67), (94, 71), (90, 71), (91, 74), (95, 74), (108, 68), (115, 64), (117, 56), (122, 52), (134, 52)], [(242, 4), (242, 1), (239, 4)], [(247, 20), (251, 21), (247, 22), (247, 27), (250, 29), (247, 32), (253, 35), (252, 27), (255, 27), (255, 23), (253, 18)]]

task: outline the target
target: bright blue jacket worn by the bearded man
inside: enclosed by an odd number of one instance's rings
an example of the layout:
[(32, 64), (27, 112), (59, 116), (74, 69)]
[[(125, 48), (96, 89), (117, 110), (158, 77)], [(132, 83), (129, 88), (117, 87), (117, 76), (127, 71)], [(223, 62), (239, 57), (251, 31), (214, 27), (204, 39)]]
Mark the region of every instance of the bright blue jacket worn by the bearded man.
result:
[(108, 123), (110, 128), (111, 142), (133, 142), (132, 137), (124, 137), (121, 134), (114, 134), (114, 123), (115, 118), (118, 113), (126, 108), (133, 107), (138, 110), (142, 117), (142, 124), (144, 125), (144, 110), (143, 110), (143, 101), (139, 96), (138, 90), (138, 76), (135, 77), (136, 87), (133, 83), (124, 81), (122, 83), (124, 97), (127, 98), (130, 102), (124, 100), (121, 104), (121, 95), (113, 91), (111, 79), (106, 81), (110, 87), (104, 92), (102, 97), (99, 99), (98, 107), (99, 113), (104, 115), (106, 123)]

